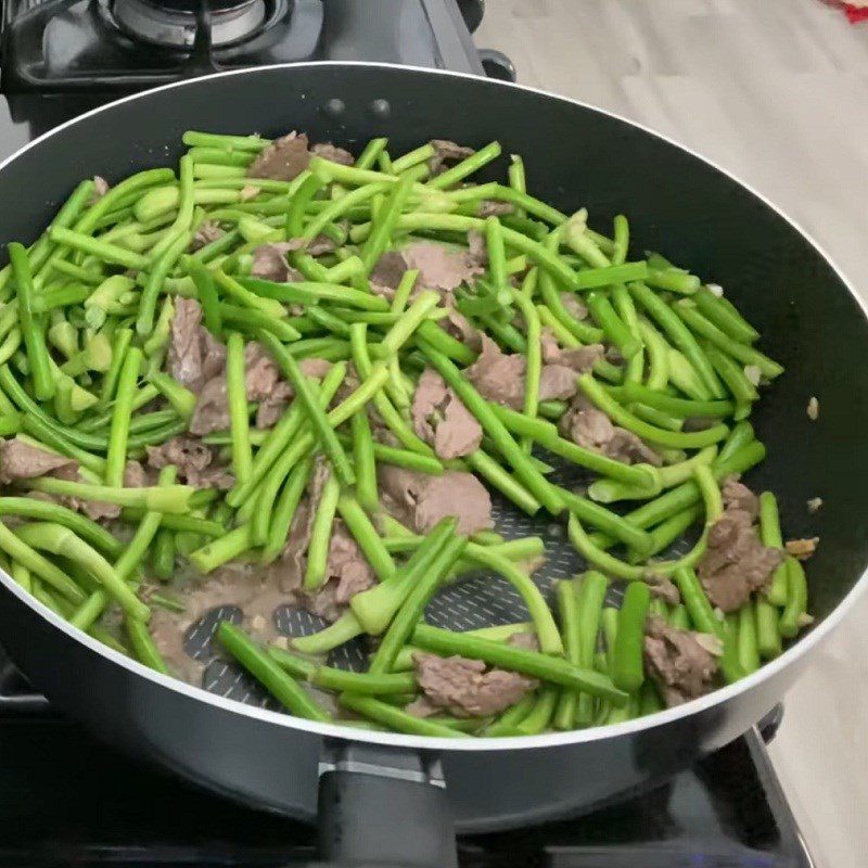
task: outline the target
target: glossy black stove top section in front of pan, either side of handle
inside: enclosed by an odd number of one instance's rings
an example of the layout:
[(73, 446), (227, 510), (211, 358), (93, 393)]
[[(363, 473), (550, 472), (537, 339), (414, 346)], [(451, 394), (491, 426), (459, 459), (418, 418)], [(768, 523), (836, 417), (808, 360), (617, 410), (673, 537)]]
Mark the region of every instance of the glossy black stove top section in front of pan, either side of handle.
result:
[[(21, 689), (8, 689), (16, 706), (0, 700), (0, 865), (316, 864), (310, 827), (133, 764)], [(664, 787), (584, 817), (461, 837), (458, 852), (461, 868), (813, 865), (758, 729)]]

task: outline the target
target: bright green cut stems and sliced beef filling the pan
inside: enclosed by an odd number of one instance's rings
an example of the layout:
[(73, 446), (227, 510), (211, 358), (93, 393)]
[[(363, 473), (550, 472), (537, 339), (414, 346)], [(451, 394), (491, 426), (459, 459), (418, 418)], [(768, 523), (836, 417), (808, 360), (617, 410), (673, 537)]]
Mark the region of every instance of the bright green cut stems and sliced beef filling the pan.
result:
[[(290, 713), (446, 737), (646, 715), (809, 624), (816, 540), (739, 481), (782, 369), (719, 286), (535, 199), (518, 155), (474, 181), (497, 142), (183, 141), (0, 271), (0, 551), (36, 599), (194, 682), (186, 631), (235, 605), (215, 647)], [(550, 602), (493, 493), (586, 562)], [(481, 571), (525, 621), (425, 622)], [(328, 626), (278, 635), (288, 603)], [(328, 665), (359, 637), (367, 671)]]

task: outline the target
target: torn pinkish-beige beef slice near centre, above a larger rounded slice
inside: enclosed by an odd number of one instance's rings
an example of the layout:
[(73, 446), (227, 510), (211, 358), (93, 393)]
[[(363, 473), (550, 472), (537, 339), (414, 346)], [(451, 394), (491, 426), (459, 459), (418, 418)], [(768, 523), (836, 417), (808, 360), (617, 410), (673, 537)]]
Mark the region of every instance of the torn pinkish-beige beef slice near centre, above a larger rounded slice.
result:
[(480, 448), (482, 425), (431, 368), (419, 378), (410, 414), (413, 430), (434, 446), (438, 458), (461, 458)]

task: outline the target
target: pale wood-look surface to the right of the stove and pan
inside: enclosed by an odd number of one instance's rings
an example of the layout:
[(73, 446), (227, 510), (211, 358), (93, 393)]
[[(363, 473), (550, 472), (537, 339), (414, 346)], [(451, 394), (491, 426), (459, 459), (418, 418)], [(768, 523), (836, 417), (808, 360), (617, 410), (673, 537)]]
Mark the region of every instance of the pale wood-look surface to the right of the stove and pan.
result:
[[(488, 0), (519, 81), (695, 149), (792, 216), (868, 298), (868, 23), (820, 0)], [(771, 746), (817, 868), (868, 866), (868, 597)]]

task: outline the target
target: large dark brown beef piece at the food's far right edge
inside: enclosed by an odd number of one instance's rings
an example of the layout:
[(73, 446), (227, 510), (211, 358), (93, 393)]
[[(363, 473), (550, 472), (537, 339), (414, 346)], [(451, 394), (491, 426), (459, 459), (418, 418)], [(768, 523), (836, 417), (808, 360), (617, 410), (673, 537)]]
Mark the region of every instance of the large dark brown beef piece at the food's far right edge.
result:
[(739, 508), (744, 500), (743, 496), (738, 500), (730, 497), (724, 514), (709, 531), (709, 546), (697, 570), (712, 605), (723, 612), (741, 609), (753, 591), (766, 586), (783, 560), (782, 551), (760, 541), (753, 524), (756, 513)]

